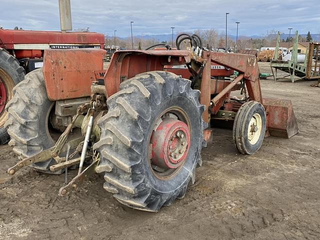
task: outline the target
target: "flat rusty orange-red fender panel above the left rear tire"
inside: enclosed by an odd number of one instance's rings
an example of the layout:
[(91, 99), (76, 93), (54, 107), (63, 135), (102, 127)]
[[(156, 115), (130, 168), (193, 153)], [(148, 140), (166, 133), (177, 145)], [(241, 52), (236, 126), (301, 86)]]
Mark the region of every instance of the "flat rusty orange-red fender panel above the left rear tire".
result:
[(94, 71), (103, 69), (105, 50), (98, 48), (48, 49), (44, 51), (43, 75), (51, 101), (90, 96)]

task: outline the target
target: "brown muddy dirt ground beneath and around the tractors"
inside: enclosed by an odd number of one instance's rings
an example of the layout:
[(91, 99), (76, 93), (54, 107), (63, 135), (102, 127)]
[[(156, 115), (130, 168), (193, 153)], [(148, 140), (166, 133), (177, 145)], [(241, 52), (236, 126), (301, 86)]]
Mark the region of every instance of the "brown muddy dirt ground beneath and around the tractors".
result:
[(292, 100), (298, 135), (266, 138), (248, 156), (231, 130), (214, 129), (195, 183), (157, 213), (118, 203), (102, 176), (67, 197), (62, 175), (27, 167), (10, 178), (16, 155), (0, 146), (0, 239), (320, 239), (320, 88), (310, 83), (261, 80), (264, 96)]

